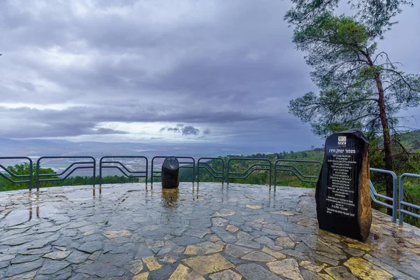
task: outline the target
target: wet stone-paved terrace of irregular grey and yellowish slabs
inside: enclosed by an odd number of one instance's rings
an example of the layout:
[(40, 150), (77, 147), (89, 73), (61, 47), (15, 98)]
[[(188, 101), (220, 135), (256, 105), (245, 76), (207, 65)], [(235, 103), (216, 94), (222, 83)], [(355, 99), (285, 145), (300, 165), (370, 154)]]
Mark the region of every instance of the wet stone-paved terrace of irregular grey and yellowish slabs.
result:
[(314, 190), (181, 183), (0, 194), (1, 279), (420, 279), (420, 230), (318, 230)]

